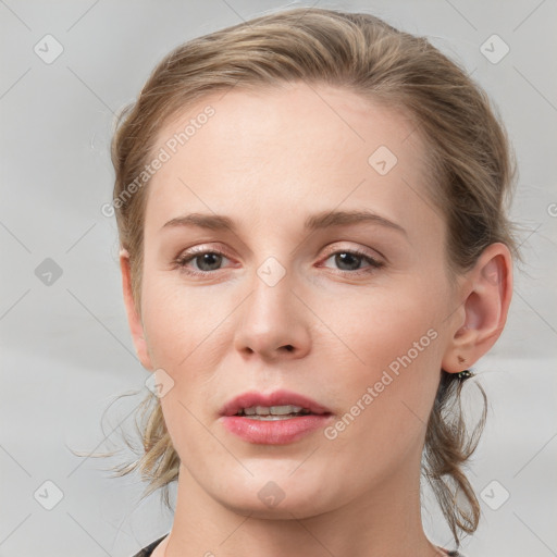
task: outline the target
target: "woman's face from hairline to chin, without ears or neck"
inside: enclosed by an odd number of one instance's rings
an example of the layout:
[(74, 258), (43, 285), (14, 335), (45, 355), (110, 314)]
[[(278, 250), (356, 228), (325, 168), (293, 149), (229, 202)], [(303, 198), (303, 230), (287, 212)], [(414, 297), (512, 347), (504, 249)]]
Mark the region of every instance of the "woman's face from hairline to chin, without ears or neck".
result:
[[(331, 87), (238, 88), (165, 125), (153, 153), (141, 359), (181, 481), (289, 518), (413, 482), (461, 313), (411, 123)], [(314, 413), (223, 416), (257, 406)]]

